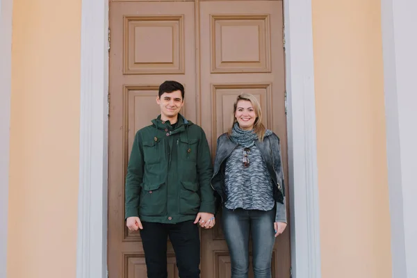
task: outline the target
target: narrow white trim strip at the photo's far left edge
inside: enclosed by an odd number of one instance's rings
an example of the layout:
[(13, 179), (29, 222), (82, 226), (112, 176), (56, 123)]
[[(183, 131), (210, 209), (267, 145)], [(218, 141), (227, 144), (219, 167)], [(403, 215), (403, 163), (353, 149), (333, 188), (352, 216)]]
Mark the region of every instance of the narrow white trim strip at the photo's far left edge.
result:
[(13, 0), (0, 0), (0, 277), (6, 277)]

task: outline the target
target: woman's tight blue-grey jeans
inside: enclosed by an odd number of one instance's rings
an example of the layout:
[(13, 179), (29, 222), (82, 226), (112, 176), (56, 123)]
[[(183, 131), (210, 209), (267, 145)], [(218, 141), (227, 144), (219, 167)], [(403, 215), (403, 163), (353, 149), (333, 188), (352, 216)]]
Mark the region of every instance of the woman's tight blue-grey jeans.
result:
[(250, 233), (254, 278), (271, 277), (272, 250), (275, 243), (274, 221), (275, 209), (249, 211), (223, 207), (222, 224), (230, 252), (232, 278), (247, 278)]

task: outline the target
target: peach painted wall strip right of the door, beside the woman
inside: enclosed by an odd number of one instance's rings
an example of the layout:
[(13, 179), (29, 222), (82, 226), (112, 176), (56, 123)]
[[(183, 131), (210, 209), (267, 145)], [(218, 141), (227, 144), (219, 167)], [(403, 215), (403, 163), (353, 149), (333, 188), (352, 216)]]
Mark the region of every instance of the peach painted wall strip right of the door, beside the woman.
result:
[(392, 275), (379, 0), (313, 0), (323, 278)]

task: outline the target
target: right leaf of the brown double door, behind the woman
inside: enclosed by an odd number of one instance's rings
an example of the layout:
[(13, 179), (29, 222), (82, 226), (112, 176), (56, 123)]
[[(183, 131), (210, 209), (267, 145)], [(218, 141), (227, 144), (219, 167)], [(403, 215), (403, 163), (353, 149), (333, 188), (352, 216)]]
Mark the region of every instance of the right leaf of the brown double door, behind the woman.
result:
[[(286, 146), (281, 1), (207, 1), (200, 5), (202, 127), (213, 155), (218, 136), (231, 126), (234, 101), (243, 92), (259, 99), (263, 123)], [(286, 161), (286, 155), (283, 159)], [(289, 277), (289, 236), (286, 229), (276, 240), (272, 277)], [(202, 232), (202, 250), (204, 277), (230, 276), (220, 215), (214, 229)]]

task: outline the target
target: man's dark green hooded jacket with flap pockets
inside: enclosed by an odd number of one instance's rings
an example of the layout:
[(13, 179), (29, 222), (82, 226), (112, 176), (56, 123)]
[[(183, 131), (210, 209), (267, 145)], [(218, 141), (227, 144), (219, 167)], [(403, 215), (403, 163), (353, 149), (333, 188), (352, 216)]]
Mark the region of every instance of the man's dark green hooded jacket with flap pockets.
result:
[(177, 125), (152, 120), (133, 141), (125, 187), (125, 218), (178, 223), (215, 213), (210, 149), (203, 129), (178, 115)]

